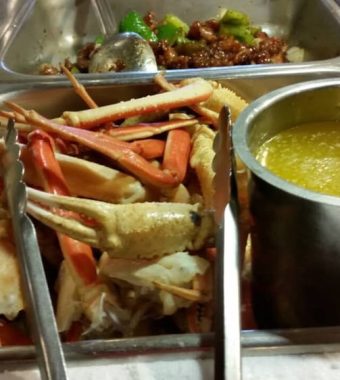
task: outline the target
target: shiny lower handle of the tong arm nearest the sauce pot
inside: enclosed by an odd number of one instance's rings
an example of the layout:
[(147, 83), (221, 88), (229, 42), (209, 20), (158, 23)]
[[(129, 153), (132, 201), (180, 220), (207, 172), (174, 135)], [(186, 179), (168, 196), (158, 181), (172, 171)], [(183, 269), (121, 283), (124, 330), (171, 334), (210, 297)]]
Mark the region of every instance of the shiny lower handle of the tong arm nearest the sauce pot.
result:
[(241, 380), (239, 236), (228, 203), (217, 234), (215, 380)]

